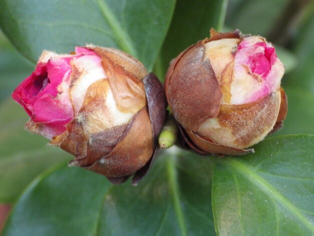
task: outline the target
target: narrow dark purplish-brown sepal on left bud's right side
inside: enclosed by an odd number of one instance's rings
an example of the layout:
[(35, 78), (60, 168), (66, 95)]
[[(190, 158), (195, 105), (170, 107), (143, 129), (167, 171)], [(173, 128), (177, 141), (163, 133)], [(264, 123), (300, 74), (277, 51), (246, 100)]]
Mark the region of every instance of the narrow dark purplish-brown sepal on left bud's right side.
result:
[(163, 84), (153, 73), (146, 75), (143, 83), (154, 141), (153, 147), (155, 148), (158, 145), (158, 136), (165, 124), (167, 101)]

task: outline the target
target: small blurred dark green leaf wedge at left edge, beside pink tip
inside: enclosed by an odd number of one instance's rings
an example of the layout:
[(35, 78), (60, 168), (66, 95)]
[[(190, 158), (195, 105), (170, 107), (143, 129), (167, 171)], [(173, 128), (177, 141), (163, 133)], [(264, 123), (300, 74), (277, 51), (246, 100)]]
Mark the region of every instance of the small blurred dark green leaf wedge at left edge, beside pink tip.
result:
[(0, 31), (0, 101), (8, 98), (18, 84), (34, 70)]

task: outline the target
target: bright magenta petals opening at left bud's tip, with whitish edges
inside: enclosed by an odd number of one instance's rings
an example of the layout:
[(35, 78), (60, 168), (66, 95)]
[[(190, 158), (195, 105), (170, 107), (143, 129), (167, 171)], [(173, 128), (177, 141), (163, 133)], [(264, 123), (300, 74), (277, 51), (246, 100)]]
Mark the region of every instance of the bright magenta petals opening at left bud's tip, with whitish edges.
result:
[[(88, 67), (84, 68), (84, 63)], [(44, 51), (35, 71), (12, 94), (13, 99), (24, 107), (31, 121), (40, 127), (36, 131), (48, 139), (66, 131), (66, 124), (78, 112), (84, 98), (81, 94), (69, 93), (69, 86), (76, 85), (70, 79), (72, 66), (78, 70), (76, 73), (93, 71), (95, 77), (91, 81), (105, 77), (100, 57), (91, 50), (77, 47), (75, 55), (58, 55)], [(81, 90), (84, 88), (86, 86)], [(73, 106), (72, 99), (76, 97), (79, 98), (76, 101), (79, 104)]]

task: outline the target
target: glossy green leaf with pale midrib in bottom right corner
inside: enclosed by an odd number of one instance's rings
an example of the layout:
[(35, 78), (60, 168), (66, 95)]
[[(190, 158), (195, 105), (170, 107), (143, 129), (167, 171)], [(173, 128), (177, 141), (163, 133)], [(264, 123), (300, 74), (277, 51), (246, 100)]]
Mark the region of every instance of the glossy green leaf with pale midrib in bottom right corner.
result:
[(314, 233), (314, 136), (269, 138), (254, 154), (216, 159), (212, 204), (221, 235)]

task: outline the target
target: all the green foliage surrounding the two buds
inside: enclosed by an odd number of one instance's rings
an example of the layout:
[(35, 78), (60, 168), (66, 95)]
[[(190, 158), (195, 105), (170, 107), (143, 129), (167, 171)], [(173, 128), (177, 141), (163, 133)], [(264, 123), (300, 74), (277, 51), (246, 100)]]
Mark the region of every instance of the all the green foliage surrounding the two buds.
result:
[[(314, 234), (313, 13), (307, 0), (0, 0), (0, 202), (14, 204), (3, 235)], [(43, 49), (120, 48), (163, 80), (211, 27), (267, 37), (286, 65), (284, 128), (256, 153), (172, 148), (139, 186), (113, 186), (23, 130), (27, 115), (10, 94)]]

